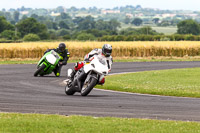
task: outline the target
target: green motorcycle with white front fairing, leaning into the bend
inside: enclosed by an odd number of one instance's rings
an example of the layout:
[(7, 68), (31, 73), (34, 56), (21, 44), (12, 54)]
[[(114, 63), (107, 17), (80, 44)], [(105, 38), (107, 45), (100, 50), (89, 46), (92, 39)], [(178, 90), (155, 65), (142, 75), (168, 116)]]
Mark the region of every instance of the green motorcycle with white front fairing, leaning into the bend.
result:
[(34, 76), (51, 74), (60, 60), (61, 57), (54, 50), (47, 52), (38, 62)]

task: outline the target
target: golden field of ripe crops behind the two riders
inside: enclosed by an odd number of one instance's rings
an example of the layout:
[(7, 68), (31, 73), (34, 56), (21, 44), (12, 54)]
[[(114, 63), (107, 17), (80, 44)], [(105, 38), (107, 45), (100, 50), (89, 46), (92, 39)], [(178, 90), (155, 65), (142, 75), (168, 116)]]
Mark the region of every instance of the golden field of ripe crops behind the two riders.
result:
[[(84, 57), (94, 48), (109, 43), (113, 57), (184, 57), (200, 56), (198, 41), (152, 42), (65, 42), (71, 57)], [(1, 43), (0, 58), (40, 58), (48, 48), (56, 48), (59, 42)]]

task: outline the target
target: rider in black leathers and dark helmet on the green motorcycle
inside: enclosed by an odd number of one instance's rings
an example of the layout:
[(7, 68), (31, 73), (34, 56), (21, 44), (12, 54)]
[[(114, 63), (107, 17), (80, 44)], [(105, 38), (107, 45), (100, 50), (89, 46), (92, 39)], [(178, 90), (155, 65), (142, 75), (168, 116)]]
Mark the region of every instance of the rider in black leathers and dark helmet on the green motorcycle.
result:
[(55, 52), (57, 52), (60, 57), (61, 57), (61, 60), (59, 61), (58, 65), (56, 66), (56, 68), (54, 69), (54, 74), (56, 75), (56, 77), (59, 77), (60, 76), (60, 72), (61, 72), (61, 68), (63, 65), (67, 65), (67, 61), (69, 59), (69, 52), (68, 52), (68, 49), (66, 48), (66, 45), (65, 43), (60, 43), (58, 45), (58, 48), (56, 49), (48, 49), (44, 52), (47, 53), (51, 50), (54, 50)]

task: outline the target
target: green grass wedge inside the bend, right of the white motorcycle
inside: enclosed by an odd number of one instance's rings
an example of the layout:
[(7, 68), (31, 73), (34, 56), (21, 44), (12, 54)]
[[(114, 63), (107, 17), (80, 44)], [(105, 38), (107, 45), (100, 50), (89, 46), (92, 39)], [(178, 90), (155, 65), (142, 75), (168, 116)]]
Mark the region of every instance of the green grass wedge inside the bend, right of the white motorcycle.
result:
[(200, 98), (200, 68), (147, 71), (106, 77), (97, 88), (124, 92)]

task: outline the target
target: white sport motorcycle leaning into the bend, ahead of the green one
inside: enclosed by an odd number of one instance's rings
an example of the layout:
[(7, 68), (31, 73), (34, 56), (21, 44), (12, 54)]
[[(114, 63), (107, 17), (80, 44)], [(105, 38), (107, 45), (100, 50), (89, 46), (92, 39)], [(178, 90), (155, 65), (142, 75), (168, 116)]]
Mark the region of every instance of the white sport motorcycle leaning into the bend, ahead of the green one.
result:
[[(101, 84), (108, 72), (106, 59), (95, 55), (91, 62), (84, 62), (84, 66), (76, 72), (73, 81), (66, 80), (65, 93), (73, 95), (80, 92), (82, 96), (87, 96), (94, 86)], [(68, 77), (71, 73), (72, 69), (68, 69)]]

